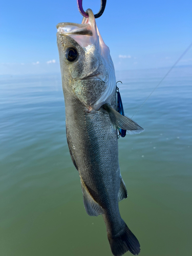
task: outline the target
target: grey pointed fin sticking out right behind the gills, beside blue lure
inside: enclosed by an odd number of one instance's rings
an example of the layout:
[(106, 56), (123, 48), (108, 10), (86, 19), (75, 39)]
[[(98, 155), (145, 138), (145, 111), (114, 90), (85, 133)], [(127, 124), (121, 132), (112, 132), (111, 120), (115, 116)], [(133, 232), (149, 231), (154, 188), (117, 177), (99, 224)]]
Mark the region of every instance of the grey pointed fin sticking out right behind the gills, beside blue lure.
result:
[(114, 110), (110, 105), (104, 104), (103, 108), (110, 115), (112, 123), (115, 126), (121, 128), (123, 130), (126, 130), (127, 133), (136, 134), (136, 133), (141, 133), (144, 131), (144, 129), (141, 126), (139, 126), (138, 123), (136, 123), (129, 117), (122, 116), (116, 110)]

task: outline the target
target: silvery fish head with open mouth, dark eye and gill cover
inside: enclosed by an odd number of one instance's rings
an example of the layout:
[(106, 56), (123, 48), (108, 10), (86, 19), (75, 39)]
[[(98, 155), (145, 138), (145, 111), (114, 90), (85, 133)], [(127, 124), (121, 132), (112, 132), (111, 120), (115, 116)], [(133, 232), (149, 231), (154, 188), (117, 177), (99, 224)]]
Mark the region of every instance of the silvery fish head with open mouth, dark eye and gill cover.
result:
[(59, 23), (59, 51), (63, 92), (78, 98), (88, 109), (110, 102), (116, 89), (109, 48), (98, 31), (92, 10), (81, 24)]

